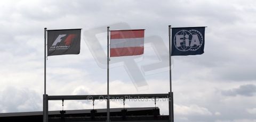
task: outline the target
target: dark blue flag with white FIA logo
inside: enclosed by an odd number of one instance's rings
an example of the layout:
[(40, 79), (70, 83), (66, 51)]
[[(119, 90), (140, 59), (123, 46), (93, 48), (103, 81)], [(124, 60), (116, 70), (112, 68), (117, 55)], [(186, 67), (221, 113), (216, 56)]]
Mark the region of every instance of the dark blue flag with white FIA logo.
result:
[(171, 56), (203, 54), (204, 30), (205, 27), (172, 28)]

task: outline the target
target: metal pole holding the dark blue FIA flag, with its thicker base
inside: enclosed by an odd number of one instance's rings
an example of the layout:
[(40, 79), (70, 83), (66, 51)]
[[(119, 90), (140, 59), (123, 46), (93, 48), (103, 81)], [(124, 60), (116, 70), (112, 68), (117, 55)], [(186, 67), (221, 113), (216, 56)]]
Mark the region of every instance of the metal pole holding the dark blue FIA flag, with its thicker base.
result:
[(170, 99), (169, 99), (169, 120), (174, 121), (173, 117), (173, 92), (172, 92), (172, 60), (171, 60), (171, 25), (169, 25), (169, 73), (170, 73)]

